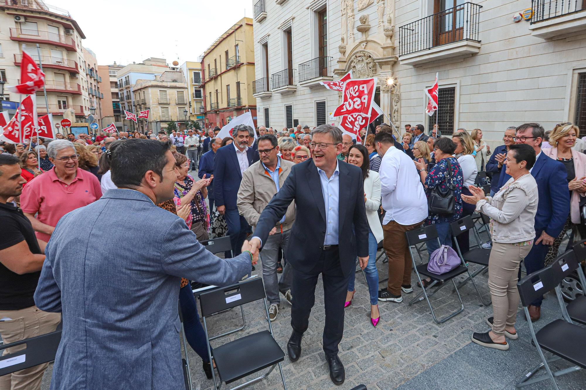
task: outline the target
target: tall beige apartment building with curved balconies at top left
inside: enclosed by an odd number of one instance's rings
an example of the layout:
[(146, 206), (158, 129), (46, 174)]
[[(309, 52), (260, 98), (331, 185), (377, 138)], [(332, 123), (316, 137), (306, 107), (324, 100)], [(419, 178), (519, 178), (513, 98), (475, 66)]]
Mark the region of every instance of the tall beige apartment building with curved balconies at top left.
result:
[[(1, 1), (0, 26), (0, 99), (20, 100), (4, 85), (19, 82), (21, 53), (26, 52), (42, 64), (46, 74), (49, 105), (42, 91), (37, 93), (39, 115), (50, 112), (54, 122), (63, 117), (85, 122), (90, 109), (96, 108), (93, 104), (98, 104), (97, 95), (90, 93), (96, 79), (86, 74), (88, 61), (81, 42), (86, 36), (70, 13), (40, 1)], [(91, 61), (94, 66), (95, 60)]]

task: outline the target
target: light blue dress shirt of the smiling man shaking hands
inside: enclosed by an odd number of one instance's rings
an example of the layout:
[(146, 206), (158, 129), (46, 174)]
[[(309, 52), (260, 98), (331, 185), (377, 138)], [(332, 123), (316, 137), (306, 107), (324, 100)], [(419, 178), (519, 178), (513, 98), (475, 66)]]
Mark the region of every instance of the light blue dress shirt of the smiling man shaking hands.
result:
[(323, 204), (326, 208), (326, 235), (323, 245), (338, 245), (338, 208), (340, 204), (340, 167), (336, 160), (336, 170), (328, 179), (326, 173), (318, 168), (322, 184)]

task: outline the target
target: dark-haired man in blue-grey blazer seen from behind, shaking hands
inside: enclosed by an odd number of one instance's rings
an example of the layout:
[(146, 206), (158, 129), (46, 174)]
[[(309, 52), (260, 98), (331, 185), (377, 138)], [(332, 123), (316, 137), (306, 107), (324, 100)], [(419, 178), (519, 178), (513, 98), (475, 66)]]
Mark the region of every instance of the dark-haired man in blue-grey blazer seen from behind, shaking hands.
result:
[[(251, 255), (217, 258), (156, 206), (173, 198), (168, 143), (117, 141), (109, 153), (118, 188), (64, 215), (45, 251), (35, 303), (63, 317), (51, 389), (176, 390), (180, 278), (230, 285), (250, 275)], [(111, 241), (121, 231), (128, 238)]]

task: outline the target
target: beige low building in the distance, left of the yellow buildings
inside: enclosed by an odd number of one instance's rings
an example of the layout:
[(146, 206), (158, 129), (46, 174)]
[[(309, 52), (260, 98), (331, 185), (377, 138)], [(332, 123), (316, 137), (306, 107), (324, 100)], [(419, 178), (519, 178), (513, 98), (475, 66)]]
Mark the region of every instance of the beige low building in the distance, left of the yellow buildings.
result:
[(185, 129), (185, 121), (189, 119), (187, 87), (183, 73), (178, 70), (165, 71), (154, 80), (137, 80), (132, 87), (137, 114), (138, 111), (151, 110), (148, 128), (145, 127), (147, 121), (139, 119), (140, 131), (156, 133), (166, 129), (169, 121), (175, 121), (179, 129)]

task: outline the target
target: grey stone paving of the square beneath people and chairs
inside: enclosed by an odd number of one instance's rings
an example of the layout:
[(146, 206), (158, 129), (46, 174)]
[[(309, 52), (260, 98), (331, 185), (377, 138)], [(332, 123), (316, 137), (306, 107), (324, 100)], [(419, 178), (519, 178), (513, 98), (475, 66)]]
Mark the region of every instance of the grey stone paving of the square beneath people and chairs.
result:
[[(380, 279), (386, 278), (387, 265), (381, 260), (377, 265)], [(260, 270), (259, 263), (254, 273), (258, 274)], [(476, 280), (479, 289), (488, 299), (487, 276), (481, 274)], [(362, 273), (356, 274), (356, 295), (352, 306), (346, 309), (344, 338), (340, 344), (340, 358), (346, 367), (346, 382), (336, 387), (329, 378), (328, 365), (322, 351), (324, 312), (320, 279), (309, 329), (303, 338), (302, 356), (295, 363), (290, 362), (285, 356), (283, 362), (288, 388), (342, 390), (364, 384), (369, 389), (381, 390), (514, 389), (515, 383), (539, 363), (539, 355), (531, 344), (521, 307), (517, 317), (519, 339), (510, 341), (509, 351), (496, 351), (471, 343), (472, 332), (488, 330), (485, 320), (492, 315), (492, 307), (481, 305), (472, 285), (468, 284), (460, 289), (465, 305), (464, 312), (438, 325), (432, 320), (425, 301), (408, 306), (408, 298), (420, 292), (415, 283), (416, 276), (413, 275), (414, 292), (411, 295), (404, 295), (402, 303), (380, 303), (381, 321), (375, 329), (369, 321), (366, 282)], [(278, 344), (286, 353), (287, 341), (291, 334), (291, 306), (282, 297), (281, 299), (279, 316), (272, 326)], [(432, 297), (431, 302), (434, 307), (438, 307), (438, 317), (445, 316), (459, 305), (455, 293), (452, 294), (449, 286)], [(558, 318), (559, 310), (553, 293), (546, 295), (543, 305), (542, 319), (535, 324), (536, 329)], [(247, 320), (246, 329), (236, 335), (214, 340), (212, 346), (233, 340), (234, 337), (268, 329), (267, 321), (264, 319), (264, 306), (260, 301), (244, 306), (244, 312)], [(240, 323), (240, 310), (233, 309), (211, 317), (208, 326), (213, 334), (219, 334), (238, 327)], [(213, 382), (207, 380), (203, 374), (200, 358), (191, 348), (188, 352), (192, 363), (194, 389), (213, 389)], [(551, 367), (565, 368), (570, 367), (570, 364), (557, 362)], [(49, 388), (49, 376), (47, 372), (43, 390)], [(586, 372), (574, 372), (557, 380), (560, 389), (583, 390)], [(231, 384), (230, 387), (240, 382)], [(278, 370), (274, 370), (268, 379), (250, 388), (282, 388)], [(527, 387), (533, 390), (548, 388), (551, 388), (550, 382)]]

